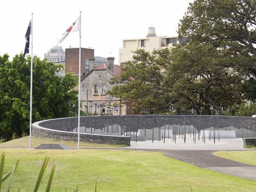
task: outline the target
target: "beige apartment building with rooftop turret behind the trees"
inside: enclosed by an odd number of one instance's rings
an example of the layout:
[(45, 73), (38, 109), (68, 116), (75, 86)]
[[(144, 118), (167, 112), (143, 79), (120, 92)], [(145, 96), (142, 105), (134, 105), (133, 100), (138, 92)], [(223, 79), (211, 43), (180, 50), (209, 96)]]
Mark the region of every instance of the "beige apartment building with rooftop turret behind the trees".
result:
[(154, 27), (148, 28), (148, 35), (140, 39), (123, 39), (123, 47), (119, 48), (119, 65), (128, 60), (132, 60), (133, 53), (136, 49), (145, 49), (152, 52), (154, 49), (164, 49), (172, 47), (173, 44), (182, 43), (186, 38), (177, 39), (177, 36), (164, 36), (156, 35)]

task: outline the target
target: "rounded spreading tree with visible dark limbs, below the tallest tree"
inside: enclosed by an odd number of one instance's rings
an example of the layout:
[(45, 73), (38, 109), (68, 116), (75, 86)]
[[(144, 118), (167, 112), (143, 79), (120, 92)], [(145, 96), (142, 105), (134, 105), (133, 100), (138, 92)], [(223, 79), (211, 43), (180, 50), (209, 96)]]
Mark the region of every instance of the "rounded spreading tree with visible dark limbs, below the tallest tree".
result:
[(194, 108), (197, 113), (210, 113), (210, 106), (220, 111), (220, 106), (240, 104), (244, 79), (234, 69), (240, 59), (232, 50), (213, 44), (178, 44), (171, 49), (164, 92), (178, 100), (176, 108)]

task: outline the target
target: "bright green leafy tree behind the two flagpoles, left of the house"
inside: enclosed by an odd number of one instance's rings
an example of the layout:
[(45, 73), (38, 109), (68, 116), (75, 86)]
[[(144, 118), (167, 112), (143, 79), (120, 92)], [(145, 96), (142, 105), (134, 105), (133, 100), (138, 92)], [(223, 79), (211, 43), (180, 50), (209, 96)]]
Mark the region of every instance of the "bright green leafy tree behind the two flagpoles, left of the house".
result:
[[(0, 133), (10, 139), (12, 133), (20, 136), (29, 129), (30, 57), (0, 56)], [(69, 102), (76, 101), (77, 78), (67, 73), (55, 73), (63, 67), (39, 57), (33, 58), (32, 122), (69, 115)]]

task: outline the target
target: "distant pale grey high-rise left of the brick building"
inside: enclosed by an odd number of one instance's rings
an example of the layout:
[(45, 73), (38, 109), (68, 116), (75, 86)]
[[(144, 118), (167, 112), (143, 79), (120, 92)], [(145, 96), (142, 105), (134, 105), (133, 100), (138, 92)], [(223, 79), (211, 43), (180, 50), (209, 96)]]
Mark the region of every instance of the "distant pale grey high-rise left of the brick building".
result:
[(44, 54), (44, 58), (46, 58), (48, 62), (65, 61), (65, 51), (61, 46), (53, 46)]

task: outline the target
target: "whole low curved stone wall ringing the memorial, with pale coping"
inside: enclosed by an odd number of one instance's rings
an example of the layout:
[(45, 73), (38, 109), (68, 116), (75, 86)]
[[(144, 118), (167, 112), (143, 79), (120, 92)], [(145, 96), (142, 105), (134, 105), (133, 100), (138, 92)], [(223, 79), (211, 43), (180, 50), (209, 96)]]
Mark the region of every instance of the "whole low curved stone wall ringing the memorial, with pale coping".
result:
[[(127, 116), (84, 116), (80, 119), (83, 130), (100, 129), (105, 135), (90, 134), (91, 131), (81, 133), (81, 141), (96, 143), (122, 143), (130, 144), (130, 137), (124, 137), (128, 132), (138, 129), (152, 129), (164, 127), (164, 125), (175, 125), (185, 127), (186, 132), (191, 128), (197, 131), (201, 129), (218, 129), (236, 131), (236, 137), (256, 137), (256, 118), (240, 116), (211, 116), (211, 115), (127, 115)], [(32, 124), (34, 136), (50, 137), (63, 140), (77, 140), (78, 118), (60, 118), (38, 121)], [(122, 129), (119, 135), (113, 135), (115, 126)], [(116, 126), (116, 127), (118, 127)], [(172, 127), (175, 127), (172, 126)], [(107, 129), (108, 127), (108, 129)], [(190, 129), (190, 130), (189, 130)], [(81, 129), (80, 129), (81, 130)]]

